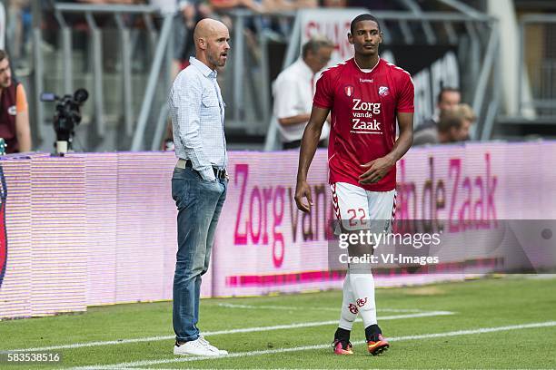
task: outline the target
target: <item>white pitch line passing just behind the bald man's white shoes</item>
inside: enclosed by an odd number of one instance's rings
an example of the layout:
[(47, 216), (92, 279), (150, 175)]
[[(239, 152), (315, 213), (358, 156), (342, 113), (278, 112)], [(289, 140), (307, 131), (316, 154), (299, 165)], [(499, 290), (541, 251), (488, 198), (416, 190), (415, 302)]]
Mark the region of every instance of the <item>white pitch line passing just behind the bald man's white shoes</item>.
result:
[[(416, 314), (405, 314), (405, 315), (392, 315), (392, 316), (380, 316), (379, 320), (399, 320), (402, 318), (416, 318), (416, 317), (428, 317), (428, 316), (446, 316), (453, 315), (450, 311), (428, 311), (420, 312)], [(358, 319), (356, 321), (361, 321)], [(255, 327), (242, 327), (238, 329), (230, 330), (218, 330), (213, 332), (203, 332), (203, 336), (219, 336), (226, 334), (236, 334), (236, 333), (253, 333), (253, 332), (264, 332), (271, 330), (282, 330), (282, 329), (295, 329), (300, 327), (312, 327), (312, 326), (325, 326), (338, 324), (338, 320), (328, 320), (328, 321), (316, 321), (310, 323), (299, 323), (299, 324), (286, 324), (286, 325), (276, 325), (276, 326), (255, 326)], [(174, 339), (175, 336), (151, 336), (144, 338), (134, 338), (134, 339), (122, 339), (122, 340), (108, 340), (103, 342), (86, 342), (86, 343), (74, 343), (72, 345), (61, 345), (61, 346), (44, 346), (37, 348), (18, 348), (18, 349), (6, 349), (6, 351), (15, 352), (31, 352), (31, 351), (52, 351), (55, 349), (70, 349), (70, 348), (82, 348), (90, 346), (114, 346), (114, 345), (124, 345), (128, 343), (141, 343), (141, 342), (155, 342), (159, 340), (169, 340)]]

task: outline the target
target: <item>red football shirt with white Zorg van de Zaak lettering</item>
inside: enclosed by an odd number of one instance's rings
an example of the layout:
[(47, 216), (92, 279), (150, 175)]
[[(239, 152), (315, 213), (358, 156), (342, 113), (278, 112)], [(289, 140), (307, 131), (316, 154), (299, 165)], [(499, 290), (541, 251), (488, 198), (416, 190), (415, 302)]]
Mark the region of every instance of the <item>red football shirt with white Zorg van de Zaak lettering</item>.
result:
[(370, 191), (395, 189), (395, 166), (382, 180), (363, 185), (359, 176), (368, 168), (361, 165), (392, 151), (396, 113), (413, 112), (413, 96), (410, 73), (383, 59), (370, 72), (362, 71), (352, 58), (322, 73), (313, 105), (331, 109), (331, 184), (347, 182)]

